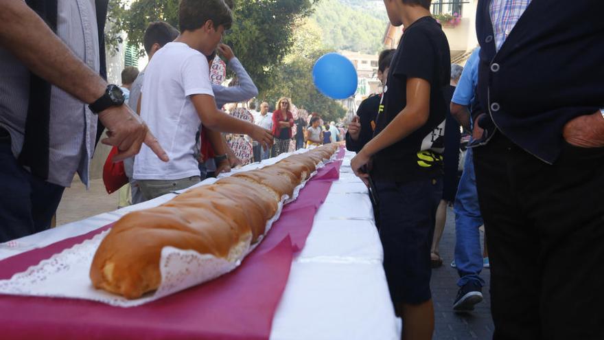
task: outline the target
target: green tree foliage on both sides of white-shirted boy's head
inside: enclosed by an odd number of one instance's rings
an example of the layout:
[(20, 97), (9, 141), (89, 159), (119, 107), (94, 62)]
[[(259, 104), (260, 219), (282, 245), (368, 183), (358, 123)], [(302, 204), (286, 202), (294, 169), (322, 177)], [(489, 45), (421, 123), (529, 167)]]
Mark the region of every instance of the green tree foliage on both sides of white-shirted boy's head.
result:
[[(224, 42), (242, 60), (260, 91), (260, 99), (274, 106), (285, 95), (298, 107), (321, 113), (324, 120), (337, 120), (345, 115), (345, 109), (319, 93), (312, 81), (314, 61), (332, 52), (325, 49), (325, 27), (307, 19), (323, 1), (332, 0), (235, 0), (233, 26)], [(123, 31), (128, 43), (139, 46), (143, 54), (143, 34), (149, 23), (162, 20), (178, 27), (178, 2), (135, 0), (126, 8), (126, 1), (110, 0), (108, 45), (115, 49), (123, 39)]]

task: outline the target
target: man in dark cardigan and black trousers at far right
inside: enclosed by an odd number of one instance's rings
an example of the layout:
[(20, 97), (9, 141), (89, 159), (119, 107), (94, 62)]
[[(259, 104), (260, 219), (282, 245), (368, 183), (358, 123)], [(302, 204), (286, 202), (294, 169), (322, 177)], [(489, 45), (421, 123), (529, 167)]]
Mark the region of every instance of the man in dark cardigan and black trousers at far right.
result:
[(604, 339), (600, 12), (598, 1), (478, 1), (474, 165), (493, 339)]

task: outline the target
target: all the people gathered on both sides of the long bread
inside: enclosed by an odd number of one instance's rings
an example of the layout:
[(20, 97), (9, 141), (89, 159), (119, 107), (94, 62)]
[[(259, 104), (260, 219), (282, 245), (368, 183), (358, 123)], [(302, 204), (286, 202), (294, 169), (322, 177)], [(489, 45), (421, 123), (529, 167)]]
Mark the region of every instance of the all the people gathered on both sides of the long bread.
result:
[[(225, 134), (248, 136), (252, 161), (346, 141), (373, 194), (403, 339), (432, 337), (430, 275), (450, 204), (454, 310), (482, 301), (492, 266), (495, 339), (604, 338), (604, 23), (593, 1), (479, 1), (480, 47), (462, 69), (430, 0), (384, 0), (404, 34), (380, 54), (383, 93), (347, 133), (290, 98), (273, 110), (251, 100), (253, 80), (222, 44), (232, 0), (181, 0), (179, 30), (151, 23), (150, 63), (124, 69), (121, 87), (104, 80), (107, 1), (58, 3), (0, 5), (0, 242), (49, 227), (74, 174), (89, 185), (98, 141), (124, 162), (132, 203), (244, 163)], [(217, 54), (233, 86), (211, 82)], [(224, 112), (242, 102), (249, 120)]]

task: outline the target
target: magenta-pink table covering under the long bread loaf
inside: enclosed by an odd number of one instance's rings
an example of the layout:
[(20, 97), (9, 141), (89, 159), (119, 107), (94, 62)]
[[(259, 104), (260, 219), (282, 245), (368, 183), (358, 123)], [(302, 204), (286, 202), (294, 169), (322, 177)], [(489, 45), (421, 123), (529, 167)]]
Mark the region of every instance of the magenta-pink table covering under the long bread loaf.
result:
[[(343, 150), (340, 150), (341, 157)], [(341, 162), (330, 163), (284, 207), (266, 239), (235, 271), (139, 307), (77, 299), (0, 295), (2, 339), (268, 339), (294, 252), (304, 247), (314, 214)], [(0, 279), (98, 232), (0, 261)]]

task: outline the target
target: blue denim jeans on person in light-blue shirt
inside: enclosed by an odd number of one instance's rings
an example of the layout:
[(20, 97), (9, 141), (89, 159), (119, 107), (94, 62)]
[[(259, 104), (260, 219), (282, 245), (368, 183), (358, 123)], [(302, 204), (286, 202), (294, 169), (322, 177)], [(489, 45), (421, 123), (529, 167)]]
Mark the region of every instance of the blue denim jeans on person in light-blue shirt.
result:
[(463, 286), (470, 280), (484, 286), (480, 277), (483, 270), (483, 253), (480, 250), (480, 231), (484, 224), (478, 205), (476, 176), (472, 149), (467, 149), (463, 174), (459, 180), (453, 210), (455, 212), (455, 264), (461, 277), (457, 285)]

